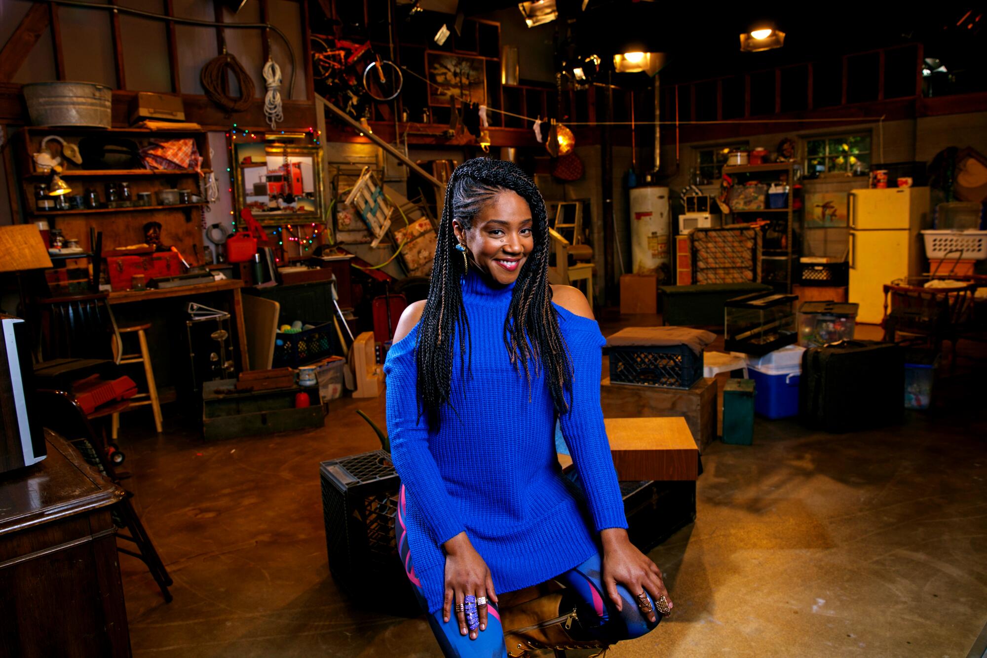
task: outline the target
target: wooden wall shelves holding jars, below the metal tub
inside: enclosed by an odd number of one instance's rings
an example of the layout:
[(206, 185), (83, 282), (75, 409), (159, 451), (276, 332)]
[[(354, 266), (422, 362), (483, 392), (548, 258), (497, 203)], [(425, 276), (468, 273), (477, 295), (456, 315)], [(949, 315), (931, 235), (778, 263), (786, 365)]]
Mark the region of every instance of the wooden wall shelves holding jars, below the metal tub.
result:
[[(56, 135), (76, 145), (86, 137), (123, 138), (134, 142), (138, 149), (152, 141), (188, 138), (194, 140), (195, 148), (202, 157), (201, 173), (209, 173), (212, 169), (207, 135), (204, 131), (29, 126), (19, 130), (13, 139), (26, 221), (45, 219), (51, 228), (61, 229), (66, 238), (79, 239), (80, 246), (88, 250), (93, 247), (88, 244), (90, 228), (102, 231), (104, 247), (112, 248), (143, 242), (144, 224), (148, 221), (156, 221), (161, 224), (162, 240), (165, 244), (178, 247), (191, 265), (200, 264), (198, 261), (202, 254), (202, 235), (199, 225), (203, 204), (156, 204), (70, 210), (38, 208), (35, 186), (48, 182), (51, 174), (38, 171), (32, 154), (40, 150), (41, 141), (48, 135)], [(157, 201), (158, 193), (168, 189), (188, 190), (192, 194), (199, 194), (201, 176), (193, 169), (84, 169), (85, 166), (93, 166), (93, 163), (85, 160), (82, 165), (64, 161), (61, 166), (64, 170), (59, 175), (72, 188), (70, 196), (83, 195), (91, 188), (97, 191), (101, 201), (105, 202), (105, 186), (119, 182), (130, 184), (134, 201), (138, 193), (142, 192), (150, 193), (151, 199)]]

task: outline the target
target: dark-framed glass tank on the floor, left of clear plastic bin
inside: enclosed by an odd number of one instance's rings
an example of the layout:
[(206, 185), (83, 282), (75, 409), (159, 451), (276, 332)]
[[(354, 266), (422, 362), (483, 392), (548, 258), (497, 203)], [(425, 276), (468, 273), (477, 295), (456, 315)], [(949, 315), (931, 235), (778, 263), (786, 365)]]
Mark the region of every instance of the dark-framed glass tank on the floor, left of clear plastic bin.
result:
[(797, 341), (795, 294), (755, 292), (725, 304), (724, 347), (765, 355)]

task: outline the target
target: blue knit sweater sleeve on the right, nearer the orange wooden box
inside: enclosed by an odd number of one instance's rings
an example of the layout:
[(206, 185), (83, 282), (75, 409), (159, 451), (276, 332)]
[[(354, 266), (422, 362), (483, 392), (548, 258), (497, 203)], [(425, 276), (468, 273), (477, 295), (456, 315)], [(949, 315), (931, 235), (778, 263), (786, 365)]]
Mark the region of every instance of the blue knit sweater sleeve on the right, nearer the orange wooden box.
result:
[(567, 332), (572, 360), (572, 395), (569, 411), (559, 417), (563, 437), (579, 473), (596, 531), (627, 528), (624, 500), (617, 481), (610, 442), (600, 406), (602, 348), (606, 344), (593, 320), (571, 316), (568, 322), (591, 322), (592, 331), (582, 327)]

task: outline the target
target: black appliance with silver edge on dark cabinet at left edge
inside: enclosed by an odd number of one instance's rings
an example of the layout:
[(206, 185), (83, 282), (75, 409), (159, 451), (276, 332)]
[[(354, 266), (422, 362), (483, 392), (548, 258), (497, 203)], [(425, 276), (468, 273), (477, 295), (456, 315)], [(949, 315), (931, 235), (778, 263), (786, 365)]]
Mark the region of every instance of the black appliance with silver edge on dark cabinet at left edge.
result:
[(38, 463), (47, 452), (34, 408), (34, 360), (28, 323), (0, 314), (0, 472)]

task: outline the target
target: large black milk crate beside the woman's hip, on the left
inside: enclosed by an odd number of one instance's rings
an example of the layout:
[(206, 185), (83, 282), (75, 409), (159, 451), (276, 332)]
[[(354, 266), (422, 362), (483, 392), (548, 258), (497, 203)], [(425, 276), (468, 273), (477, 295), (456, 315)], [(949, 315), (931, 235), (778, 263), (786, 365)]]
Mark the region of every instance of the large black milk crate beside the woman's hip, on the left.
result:
[(401, 480), (391, 455), (362, 452), (319, 464), (326, 546), (333, 580), (350, 597), (391, 614), (418, 616), (418, 599), (398, 553)]

